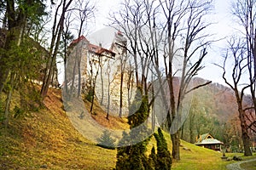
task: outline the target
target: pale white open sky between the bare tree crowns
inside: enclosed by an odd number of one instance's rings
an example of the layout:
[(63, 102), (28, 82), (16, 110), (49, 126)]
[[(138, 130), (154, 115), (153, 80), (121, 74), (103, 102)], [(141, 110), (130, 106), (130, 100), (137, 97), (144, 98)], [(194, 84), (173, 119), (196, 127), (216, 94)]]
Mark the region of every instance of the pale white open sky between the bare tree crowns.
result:
[[(90, 42), (98, 43), (104, 39), (103, 34), (99, 34), (99, 32), (108, 25), (109, 21), (107, 17), (109, 12), (118, 10), (119, 2), (121, 1), (122, 0), (96, 0), (96, 8), (98, 9), (96, 11), (96, 20), (95, 23), (92, 23), (90, 33), (86, 36)], [(214, 24), (212, 25), (212, 32), (215, 34), (215, 39), (229, 36), (233, 30), (230, 2), (231, 0), (213, 0), (214, 10), (212, 11), (212, 20), (214, 20)], [(222, 51), (225, 43), (226, 40), (212, 43), (212, 47), (208, 50), (207, 59), (204, 61), (205, 68), (199, 73), (198, 77), (224, 84), (222, 71), (218, 66), (214, 65), (214, 63), (221, 64), (221, 56), (223, 55)], [(108, 48), (109, 44), (103, 43), (102, 46)]]

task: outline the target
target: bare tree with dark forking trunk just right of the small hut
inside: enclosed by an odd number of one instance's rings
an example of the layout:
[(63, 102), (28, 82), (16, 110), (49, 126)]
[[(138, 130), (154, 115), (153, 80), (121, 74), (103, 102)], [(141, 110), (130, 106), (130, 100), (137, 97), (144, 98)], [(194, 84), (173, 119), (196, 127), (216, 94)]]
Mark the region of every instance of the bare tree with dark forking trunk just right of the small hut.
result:
[[(233, 37), (229, 42), (229, 48), (227, 50), (226, 55), (224, 56), (224, 65), (219, 65), (224, 73), (223, 79), (224, 82), (229, 85), (229, 87), (233, 90), (236, 95), (236, 104), (237, 110), (239, 113), (239, 119), (241, 123), (241, 139), (244, 147), (244, 155), (252, 156), (252, 151), (250, 150), (250, 137), (248, 133), (248, 125), (246, 121), (246, 111), (247, 108), (243, 104), (245, 90), (252, 86), (252, 82), (246, 83), (243, 82), (243, 78), (246, 77), (247, 74), (247, 48), (244, 47), (244, 42), (241, 39), (236, 39)], [(232, 71), (229, 74), (228, 61), (234, 63), (232, 66)], [(231, 79), (229, 79), (231, 78)], [(241, 92), (240, 92), (241, 88)]]

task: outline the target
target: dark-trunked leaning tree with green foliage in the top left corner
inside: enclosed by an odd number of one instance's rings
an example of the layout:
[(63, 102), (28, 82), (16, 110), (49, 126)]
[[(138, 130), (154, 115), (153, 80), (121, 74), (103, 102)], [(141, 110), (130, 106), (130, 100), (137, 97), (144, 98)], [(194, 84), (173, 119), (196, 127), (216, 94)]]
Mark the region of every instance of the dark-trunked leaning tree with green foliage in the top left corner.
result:
[[(26, 0), (16, 2), (8, 0), (3, 2), (5, 14), (3, 16), (3, 27), (7, 28), (7, 36), (4, 40), (3, 52), (0, 56), (0, 94), (3, 91), (4, 83), (9, 77), (11, 65), (8, 52), (13, 49), (13, 44), (20, 46), (22, 38), (29, 36), (32, 29), (30, 26), (39, 25), (42, 16), (46, 14), (44, 1)], [(6, 20), (6, 21), (4, 21)]]

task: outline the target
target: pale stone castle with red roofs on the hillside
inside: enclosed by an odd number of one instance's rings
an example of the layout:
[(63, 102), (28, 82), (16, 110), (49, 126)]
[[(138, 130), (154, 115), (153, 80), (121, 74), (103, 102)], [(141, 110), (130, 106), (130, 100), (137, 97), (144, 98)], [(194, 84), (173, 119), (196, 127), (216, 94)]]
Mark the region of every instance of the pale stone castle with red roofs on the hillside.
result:
[(110, 112), (118, 114), (121, 106), (127, 116), (133, 81), (131, 68), (127, 64), (126, 46), (127, 40), (120, 31), (114, 33), (109, 49), (103, 48), (101, 43), (90, 43), (84, 36), (73, 40), (67, 58), (67, 86), (70, 87), (73, 82), (76, 92), (80, 85), (84, 94), (94, 88), (96, 100), (104, 110), (110, 105)]

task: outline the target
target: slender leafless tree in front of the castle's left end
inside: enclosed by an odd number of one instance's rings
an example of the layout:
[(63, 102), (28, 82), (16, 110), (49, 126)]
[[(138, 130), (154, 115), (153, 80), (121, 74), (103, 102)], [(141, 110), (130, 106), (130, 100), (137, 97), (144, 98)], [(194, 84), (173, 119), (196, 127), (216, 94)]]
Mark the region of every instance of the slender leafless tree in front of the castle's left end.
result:
[[(68, 90), (67, 93), (70, 95), (76, 95), (76, 97), (79, 97), (81, 94), (81, 88), (82, 88), (81, 87), (82, 85), (81, 71), (83, 71), (84, 69), (84, 68), (81, 69), (81, 59), (84, 59), (84, 55), (86, 55), (84, 54), (84, 48), (86, 48), (86, 45), (88, 45), (86, 44), (87, 42), (82, 42), (84, 41), (84, 39), (82, 38), (82, 34), (84, 34), (84, 28), (86, 28), (86, 25), (88, 24), (89, 20), (94, 18), (94, 10), (95, 10), (94, 3), (90, 3), (89, 1), (85, 1), (85, 0), (78, 0), (78, 1), (75, 1), (73, 6), (68, 10), (68, 13), (67, 13), (67, 20), (69, 20), (69, 23), (67, 23), (68, 24), (67, 26), (69, 26), (69, 29), (73, 29), (73, 27), (70, 26), (72, 21), (73, 21), (73, 25), (75, 26), (76, 26), (75, 23), (79, 24), (79, 26), (77, 26), (78, 27), (77, 42), (74, 42), (72, 44), (73, 47), (69, 48), (69, 50), (71, 50), (73, 53), (72, 56), (70, 54), (69, 57), (73, 59), (68, 59), (69, 63), (66, 62), (66, 66), (65, 66), (66, 77), (67, 77), (67, 72), (72, 77), (72, 82), (69, 87), (70, 89)], [(78, 79), (76, 81), (78, 82), (75, 82), (75, 77), (77, 76), (78, 76)], [(66, 91), (68, 88), (67, 81), (70, 81), (70, 80), (65, 80)], [(77, 88), (74, 88), (75, 84), (78, 85)]]

